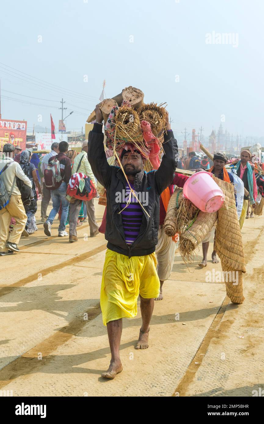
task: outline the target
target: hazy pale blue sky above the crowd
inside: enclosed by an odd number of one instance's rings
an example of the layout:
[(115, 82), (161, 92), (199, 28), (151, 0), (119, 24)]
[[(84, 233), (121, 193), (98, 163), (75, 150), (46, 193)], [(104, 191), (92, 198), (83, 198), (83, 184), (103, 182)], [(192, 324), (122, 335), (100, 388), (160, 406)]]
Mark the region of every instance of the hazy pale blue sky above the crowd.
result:
[(261, 0), (2, 3), (2, 117), (27, 120), (30, 132), (50, 128), (51, 113), (58, 131), (63, 97), (64, 116), (75, 111), (67, 130), (80, 131), (105, 79), (107, 97), (132, 85), (145, 102), (167, 102), (179, 140), (185, 127), (208, 136), (221, 119), (230, 134), (261, 137), (263, 16)]

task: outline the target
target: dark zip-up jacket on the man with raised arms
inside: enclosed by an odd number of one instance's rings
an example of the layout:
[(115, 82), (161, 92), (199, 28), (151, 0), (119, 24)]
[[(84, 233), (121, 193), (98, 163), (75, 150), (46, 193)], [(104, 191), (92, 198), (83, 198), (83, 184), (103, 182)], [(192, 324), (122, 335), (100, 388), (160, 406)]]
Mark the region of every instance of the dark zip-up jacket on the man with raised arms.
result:
[(159, 169), (148, 173), (140, 171), (135, 176), (135, 191), (148, 193), (148, 202), (144, 209), (149, 216), (143, 210), (140, 232), (130, 246), (126, 244), (122, 217), (118, 214), (121, 211), (120, 203), (116, 202), (117, 193), (122, 193), (126, 188), (126, 179), (120, 167), (110, 166), (107, 162), (102, 125), (94, 124), (88, 140), (88, 161), (95, 178), (107, 190), (107, 248), (128, 257), (153, 253), (160, 223), (160, 195), (171, 184), (177, 167), (178, 147), (173, 132), (167, 131), (164, 134), (164, 155)]

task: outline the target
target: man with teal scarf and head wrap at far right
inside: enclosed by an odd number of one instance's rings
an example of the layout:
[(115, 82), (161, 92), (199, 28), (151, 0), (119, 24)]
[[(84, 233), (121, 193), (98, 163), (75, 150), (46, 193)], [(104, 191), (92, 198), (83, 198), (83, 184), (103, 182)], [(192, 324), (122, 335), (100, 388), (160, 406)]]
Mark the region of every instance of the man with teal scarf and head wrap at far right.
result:
[(252, 153), (248, 149), (244, 149), (240, 153), (240, 157), (240, 161), (236, 164), (236, 173), (237, 176), (242, 179), (244, 188), (249, 192), (247, 196), (244, 196), (243, 208), (239, 218), (240, 229), (242, 229), (247, 215), (248, 203), (250, 203), (252, 209), (254, 209), (256, 206), (258, 189), (254, 173), (254, 165), (250, 163)]

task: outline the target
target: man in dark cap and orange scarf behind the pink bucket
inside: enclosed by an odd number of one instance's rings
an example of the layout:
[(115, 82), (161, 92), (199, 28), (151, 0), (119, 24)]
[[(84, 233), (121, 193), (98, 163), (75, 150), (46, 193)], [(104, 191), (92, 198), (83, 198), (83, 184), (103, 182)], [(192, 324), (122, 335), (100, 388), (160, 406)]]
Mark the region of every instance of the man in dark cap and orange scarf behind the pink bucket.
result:
[[(225, 169), (225, 164), (227, 163), (227, 161), (228, 161), (228, 157), (225, 155), (225, 153), (222, 153), (222, 152), (215, 153), (213, 155), (213, 166), (210, 169), (208, 169), (208, 172), (211, 172), (214, 176), (216, 176), (222, 181), (226, 181), (228, 183), (234, 184), (234, 178), (232, 173), (227, 172), (227, 170)], [(203, 171), (203, 169), (200, 168), (199, 171)], [(236, 200), (235, 188), (234, 188), (234, 196)], [(236, 203), (236, 206), (237, 206), (237, 203)], [(203, 258), (202, 258), (202, 262), (199, 263), (200, 267), (207, 266), (207, 253), (208, 253), (211, 235), (213, 234), (214, 234), (214, 228), (207, 234), (205, 239), (202, 240)], [(212, 262), (213, 264), (217, 264), (219, 262), (216, 256), (216, 251), (214, 249), (214, 246), (213, 246), (213, 252), (212, 252)]]

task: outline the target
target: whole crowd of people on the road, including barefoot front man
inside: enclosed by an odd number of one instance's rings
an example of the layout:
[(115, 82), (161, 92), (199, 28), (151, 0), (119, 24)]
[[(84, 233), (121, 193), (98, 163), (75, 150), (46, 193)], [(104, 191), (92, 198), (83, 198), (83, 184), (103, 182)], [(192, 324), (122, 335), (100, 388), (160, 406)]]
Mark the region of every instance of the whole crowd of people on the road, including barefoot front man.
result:
[[(58, 237), (69, 236), (70, 243), (78, 241), (76, 227), (86, 219), (85, 216), (90, 226), (90, 237), (98, 235), (99, 230), (104, 232), (107, 252), (100, 303), (103, 323), (107, 326), (111, 361), (102, 376), (113, 379), (122, 371), (119, 354), (122, 319), (135, 317), (137, 299), (140, 297), (142, 325), (135, 349), (148, 348), (154, 300), (163, 299), (163, 285), (171, 275), (176, 240), (165, 234), (164, 220), (174, 186), (183, 187), (188, 179), (188, 176), (175, 173), (176, 168), (182, 167), (196, 172), (208, 170), (230, 184), (234, 184), (234, 180), (233, 174), (225, 168), (228, 161), (225, 153), (216, 152), (213, 161), (207, 156), (200, 159), (195, 152), (189, 153), (188, 158), (177, 160), (177, 141), (168, 116), (164, 131), (164, 154), (157, 170), (146, 173), (145, 157), (137, 149), (129, 148), (124, 149), (119, 156), (122, 166), (112, 166), (104, 147), (103, 116), (99, 106), (96, 106), (95, 114), (93, 130), (89, 133), (89, 139), (83, 142), (82, 150), (78, 154), (76, 151), (69, 151), (69, 145), (65, 141), (54, 142), (51, 152), (41, 158), (37, 153), (31, 156), (28, 150), (19, 151), (12, 144), (4, 145), (0, 161), (0, 179), (8, 192), (9, 202), (0, 209), (0, 255), (18, 252), (17, 245), (21, 235), (28, 237), (37, 230), (35, 214), (39, 195), (42, 195), (41, 221), (46, 236), (50, 237), (52, 234), (56, 215), (59, 215)], [(250, 151), (244, 150), (241, 152), (241, 159), (235, 164), (236, 174), (242, 179), (249, 193), (244, 196), (240, 228), (247, 217), (249, 204), (252, 210), (256, 206), (258, 178), (256, 179), (256, 168), (250, 160)], [(85, 176), (89, 178), (85, 180)], [(96, 184), (105, 192), (107, 201), (105, 223), (104, 226), (103, 223), (101, 225), (103, 230), (99, 229), (96, 223), (93, 198), (81, 200), (69, 196), (68, 188), (77, 179), (79, 187), (82, 184), (87, 193), (91, 187), (96, 187)], [(20, 192), (21, 181), (31, 189), (30, 195), (25, 199)], [(263, 192), (263, 185), (262, 179), (258, 182), (259, 192)], [(143, 206), (138, 198), (134, 198), (132, 202), (127, 202), (124, 197), (117, 200), (117, 193), (124, 192), (125, 197), (129, 198), (133, 192), (144, 192), (147, 194), (147, 201)], [(235, 186), (234, 199), (236, 200)], [(48, 214), (50, 201), (52, 209)], [(66, 231), (67, 225), (69, 233)], [(213, 232), (202, 240), (203, 259), (199, 264), (201, 267), (207, 265), (211, 235)], [(212, 261), (218, 262), (214, 250)]]

